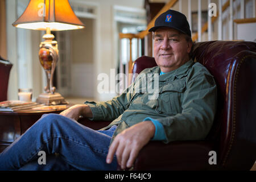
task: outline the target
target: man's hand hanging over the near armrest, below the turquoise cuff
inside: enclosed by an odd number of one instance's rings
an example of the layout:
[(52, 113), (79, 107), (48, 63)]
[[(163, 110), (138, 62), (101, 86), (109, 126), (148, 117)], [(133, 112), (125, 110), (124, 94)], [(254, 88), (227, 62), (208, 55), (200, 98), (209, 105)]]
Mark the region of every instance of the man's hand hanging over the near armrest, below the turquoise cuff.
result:
[(106, 163), (112, 163), (114, 154), (122, 169), (133, 166), (141, 148), (154, 137), (155, 126), (151, 121), (143, 121), (122, 131), (109, 147)]

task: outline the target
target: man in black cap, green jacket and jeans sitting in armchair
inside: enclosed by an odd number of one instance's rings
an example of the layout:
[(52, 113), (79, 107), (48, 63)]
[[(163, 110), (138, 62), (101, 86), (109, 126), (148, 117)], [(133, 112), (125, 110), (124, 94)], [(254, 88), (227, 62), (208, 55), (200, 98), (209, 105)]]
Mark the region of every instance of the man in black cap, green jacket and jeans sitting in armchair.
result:
[[(0, 169), (130, 168), (150, 140), (204, 139), (213, 123), (217, 90), (213, 76), (190, 59), (192, 40), (187, 18), (168, 10), (155, 20), (154, 55), (158, 67), (144, 69), (120, 96), (106, 102), (85, 102), (57, 114), (43, 115), (0, 155)], [(157, 97), (141, 92), (143, 77), (158, 81)], [(154, 80), (152, 75), (159, 75)], [(77, 123), (114, 120), (94, 131)], [(39, 151), (47, 153), (38, 164)], [(56, 155), (57, 154), (57, 155)]]

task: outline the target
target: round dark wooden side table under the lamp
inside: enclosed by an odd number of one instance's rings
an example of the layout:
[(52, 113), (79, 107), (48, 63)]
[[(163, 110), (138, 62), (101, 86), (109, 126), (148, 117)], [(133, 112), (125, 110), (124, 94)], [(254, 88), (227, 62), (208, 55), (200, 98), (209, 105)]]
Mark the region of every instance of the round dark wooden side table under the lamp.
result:
[(59, 114), (63, 110), (64, 109), (19, 112), (0, 111), (0, 152), (38, 121), (43, 114)]

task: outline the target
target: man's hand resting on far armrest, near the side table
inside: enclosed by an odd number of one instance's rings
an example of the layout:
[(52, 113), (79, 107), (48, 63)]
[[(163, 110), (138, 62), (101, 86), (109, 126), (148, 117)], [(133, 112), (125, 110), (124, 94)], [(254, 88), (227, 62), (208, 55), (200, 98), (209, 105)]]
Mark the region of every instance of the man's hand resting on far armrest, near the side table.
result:
[(71, 106), (68, 109), (62, 111), (60, 115), (75, 119), (76, 121), (79, 119), (80, 115), (87, 118), (93, 117), (92, 110), (90, 110), (90, 107), (85, 104)]

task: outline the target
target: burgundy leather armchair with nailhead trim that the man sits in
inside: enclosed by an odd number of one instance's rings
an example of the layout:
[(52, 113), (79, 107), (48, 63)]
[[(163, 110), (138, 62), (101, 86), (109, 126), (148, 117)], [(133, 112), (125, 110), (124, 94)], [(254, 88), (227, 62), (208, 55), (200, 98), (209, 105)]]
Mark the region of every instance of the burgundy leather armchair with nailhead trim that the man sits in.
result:
[[(253, 166), (256, 160), (256, 43), (196, 43), (193, 60), (212, 73), (218, 87), (217, 113), (208, 137), (168, 144), (151, 141), (139, 152), (134, 170), (250, 170)], [(133, 73), (155, 65), (154, 57), (139, 57), (134, 62)], [(79, 122), (93, 129), (109, 124), (85, 118)], [(210, 151), (216, 152), (217, 164), (209, 164)]]

